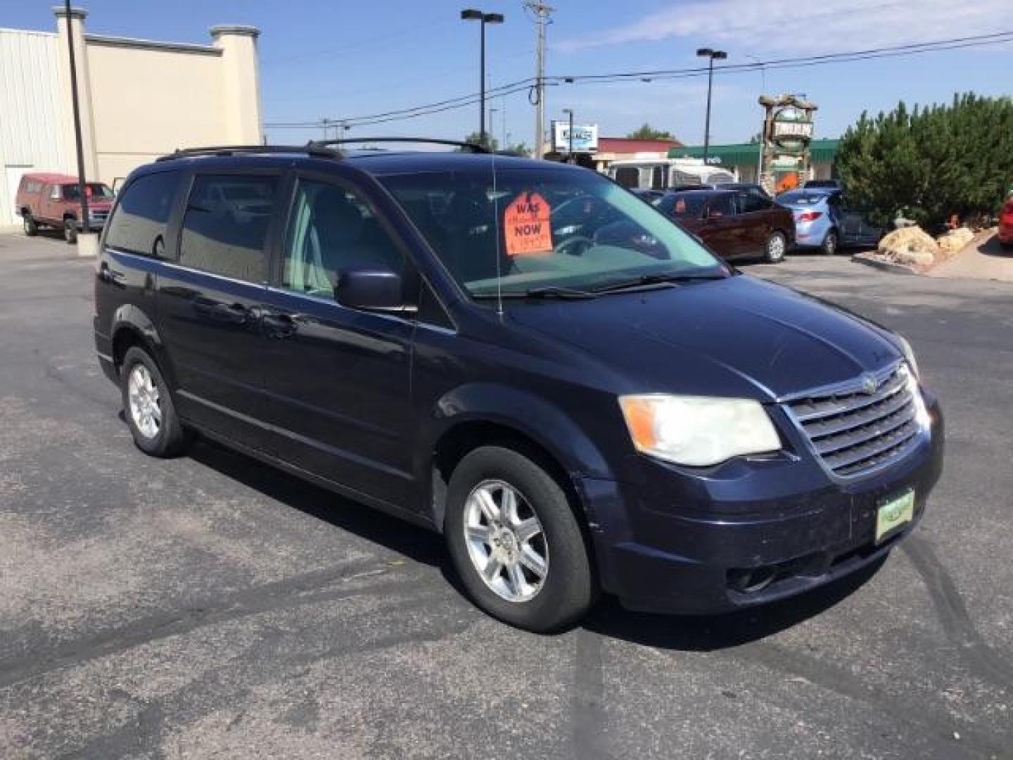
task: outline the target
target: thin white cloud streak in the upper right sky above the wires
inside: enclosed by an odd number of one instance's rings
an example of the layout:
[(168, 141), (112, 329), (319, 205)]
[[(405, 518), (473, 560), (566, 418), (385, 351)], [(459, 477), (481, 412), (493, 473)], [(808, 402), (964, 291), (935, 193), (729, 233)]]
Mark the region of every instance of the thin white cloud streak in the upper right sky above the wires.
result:
[[(692, 0), (594, 36), (562, 40), (562, 53), (684, 39), (734, 53), (825, 54), (1007, 30), (1010, 0), (831, 0), (815, 10), (783, 0)], [(833, 7), (829, 7), (833, 6)], [(808, 6), (812, 7), (812, 6)], [(1004, 28), (1007, 27), (1007, 28)]]

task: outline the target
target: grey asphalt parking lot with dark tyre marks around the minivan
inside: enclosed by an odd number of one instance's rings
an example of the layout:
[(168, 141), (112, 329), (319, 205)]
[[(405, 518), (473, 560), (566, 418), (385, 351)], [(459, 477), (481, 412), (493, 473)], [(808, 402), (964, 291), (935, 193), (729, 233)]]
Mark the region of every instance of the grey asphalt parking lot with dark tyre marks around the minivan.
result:
[(141, 454), (71, 251), (0, 235), (0, 757), (1013, 757), (1013, 286), (745, 268), (911, 338), (947, 415), (926, 519), (801, 599), (536, 636), (436, 536), (209, 444)]

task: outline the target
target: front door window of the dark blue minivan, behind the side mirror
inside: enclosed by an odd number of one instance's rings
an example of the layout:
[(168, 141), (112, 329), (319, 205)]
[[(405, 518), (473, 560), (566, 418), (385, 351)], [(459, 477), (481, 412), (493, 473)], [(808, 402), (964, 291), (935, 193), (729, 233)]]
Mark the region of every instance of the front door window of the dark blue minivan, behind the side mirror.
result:
[(282, 287), (329, 298), (341, 271), (358, 267), (384, 267), (403, 277), (404, 255), (358, 194), (330, 182), (300, 180)]

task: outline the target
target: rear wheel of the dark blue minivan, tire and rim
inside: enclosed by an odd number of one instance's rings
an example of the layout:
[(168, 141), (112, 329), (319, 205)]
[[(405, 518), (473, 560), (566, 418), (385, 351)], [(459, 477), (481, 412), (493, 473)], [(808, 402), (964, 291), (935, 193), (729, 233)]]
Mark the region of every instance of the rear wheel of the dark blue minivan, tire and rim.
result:
[(188, 443), (165, 378), (146, 351), (132, 347), (120, 371), (124, 415), (134, 443), (153, 457), (173, 457)]

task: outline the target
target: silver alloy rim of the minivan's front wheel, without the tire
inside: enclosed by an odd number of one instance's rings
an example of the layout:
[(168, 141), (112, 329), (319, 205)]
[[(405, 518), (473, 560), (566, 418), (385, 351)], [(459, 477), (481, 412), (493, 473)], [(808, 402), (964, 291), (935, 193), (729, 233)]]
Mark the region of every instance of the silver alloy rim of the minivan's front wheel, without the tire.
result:
[(464, 505), (468, 556), (485, 585), (510, 602), (527, 602), (545, 584), (549, 550), (528, 500), (502, 480), (483, 480)]

